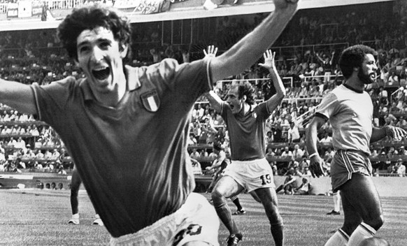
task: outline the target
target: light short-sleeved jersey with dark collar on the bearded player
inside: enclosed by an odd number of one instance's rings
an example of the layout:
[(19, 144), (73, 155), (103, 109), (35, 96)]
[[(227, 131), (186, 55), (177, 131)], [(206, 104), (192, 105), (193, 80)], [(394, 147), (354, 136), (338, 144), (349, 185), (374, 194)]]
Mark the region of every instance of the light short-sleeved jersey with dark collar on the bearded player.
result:
[(335, 150), (359, 150), (370, 154), (373, 103), (367, 92), (340, 85), (322, 99), (315, 111), (332, 126)]

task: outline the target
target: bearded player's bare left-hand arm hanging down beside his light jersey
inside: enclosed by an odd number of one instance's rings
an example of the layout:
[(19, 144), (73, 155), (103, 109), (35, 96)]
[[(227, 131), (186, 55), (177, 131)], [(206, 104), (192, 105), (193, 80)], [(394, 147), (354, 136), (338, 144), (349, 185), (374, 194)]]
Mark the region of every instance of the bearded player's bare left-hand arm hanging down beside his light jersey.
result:
[(313, 117), (310, 124), (308, 124), (308, 128), (306, 129), (306, 147), (308, 154), (313, 155), (310, 157), (310, 171), (313, 177), (320, 177), (320, 175), (324, 175), (324, 171), (322, 169), (323, 160), (317, 151), (318, 129), (320, 129), (324, 124), (325, 120), (322, 119), (322, 117)]

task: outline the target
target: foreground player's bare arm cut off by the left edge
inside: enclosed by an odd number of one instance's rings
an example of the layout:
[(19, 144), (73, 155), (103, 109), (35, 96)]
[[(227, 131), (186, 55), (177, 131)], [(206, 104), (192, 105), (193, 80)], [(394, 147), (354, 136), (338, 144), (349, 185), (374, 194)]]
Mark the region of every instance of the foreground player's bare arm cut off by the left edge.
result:
[(0, 79), (0, 102), (20, 113), (36, 115), (34, 92), (29, 85)]

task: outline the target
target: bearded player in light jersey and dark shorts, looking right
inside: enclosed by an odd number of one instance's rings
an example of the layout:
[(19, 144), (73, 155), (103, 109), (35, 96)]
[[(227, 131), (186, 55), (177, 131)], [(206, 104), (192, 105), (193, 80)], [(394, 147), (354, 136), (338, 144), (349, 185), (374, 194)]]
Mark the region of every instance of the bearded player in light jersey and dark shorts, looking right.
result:
[(331, 163), (333, 191), (340, 190), (345, 219), (325, 245), (357, 246), (371, 238), (383, 225), (380, 198), (371, 179), (369, 145), (389, 136), (401, 139), (406, 131), (395, 126), (373, 127), (373, 103), (365, 85), (376, 77), (376, 51), (355, 45), (345, 49), (339, 66), (345, 82), (324, 96), (306, 131), (306, 147), (313, 175), (323, 175), (322, 159), (317, 152), (317, 131), (329, 120), (336, 150)]

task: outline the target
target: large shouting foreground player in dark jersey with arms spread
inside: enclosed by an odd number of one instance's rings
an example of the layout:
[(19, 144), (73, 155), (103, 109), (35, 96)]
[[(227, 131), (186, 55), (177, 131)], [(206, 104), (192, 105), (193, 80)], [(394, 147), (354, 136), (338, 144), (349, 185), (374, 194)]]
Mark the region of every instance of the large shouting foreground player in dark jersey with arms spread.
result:
[(192, 193), (187, 138), (194, 102), (253, 64), (285, 28), (297, 1), (275, 10), (219, 57), (126, 65), (131, 26), (98, 4), (75, 8), (59, 40), (83, 71), (49, 85), (0, 80), (0, 102), (35, 115), (62, 138), (111, 245), (218, 245), (219, 219)]

